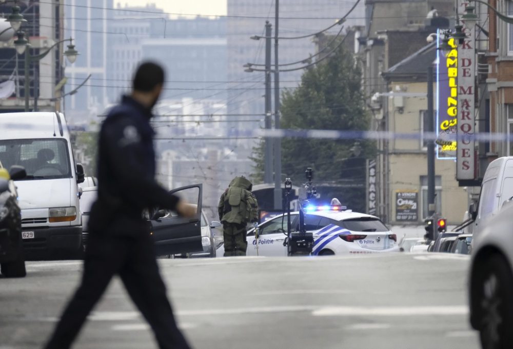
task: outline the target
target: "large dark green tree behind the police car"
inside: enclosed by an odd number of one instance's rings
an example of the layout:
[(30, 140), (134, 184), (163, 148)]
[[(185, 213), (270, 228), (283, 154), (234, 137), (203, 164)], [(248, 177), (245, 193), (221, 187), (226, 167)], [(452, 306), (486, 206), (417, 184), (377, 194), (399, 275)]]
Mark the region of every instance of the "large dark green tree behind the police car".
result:
[[(336, 44), (335, 44), (336, 45)], [(282, 94), (281, 127), (291, 129), (368, 130), (361, 72), (341, 45), (331, 57), (307, 70), (298, 88)], [(360, 154), (354, 151), (359, 142)], [(263, 143), (262, 143), (263, 144)], [(253, 178), (262, 178), (262, 146), (255, 148)], [(375, 152), (365, 140), (282, 139), (282, 179), (305, 182), (307, 167), (324, 201), (338, 197), (354, 210), (365, 210), (365, 158)]]

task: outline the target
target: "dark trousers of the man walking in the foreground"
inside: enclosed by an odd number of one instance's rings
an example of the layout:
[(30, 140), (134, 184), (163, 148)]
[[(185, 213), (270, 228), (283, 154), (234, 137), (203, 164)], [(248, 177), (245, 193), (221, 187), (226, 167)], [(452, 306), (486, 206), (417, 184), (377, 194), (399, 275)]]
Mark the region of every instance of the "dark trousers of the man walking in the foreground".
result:
[[(102, 232), (100, 233), (102, 234)], [(160, 348), (189, 348), (176, 326), (149, 234), (104, 236), (91, 232), (82, 283), (68, 303), (47, 349), (69, 348), (115, 274), (151, 325)]]

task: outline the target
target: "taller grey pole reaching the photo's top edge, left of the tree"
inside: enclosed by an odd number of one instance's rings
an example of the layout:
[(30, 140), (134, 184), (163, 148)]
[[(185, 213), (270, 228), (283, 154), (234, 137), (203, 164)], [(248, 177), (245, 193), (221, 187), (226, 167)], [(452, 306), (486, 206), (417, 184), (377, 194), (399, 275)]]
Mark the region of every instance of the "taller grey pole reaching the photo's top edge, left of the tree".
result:
[[(280, 67), (278, 64), (278, 21), (280, 1), (274, 1), (274, 128), (280, 128)], [(282, 140), (274, 139), (274, 209), (282, 209)]]

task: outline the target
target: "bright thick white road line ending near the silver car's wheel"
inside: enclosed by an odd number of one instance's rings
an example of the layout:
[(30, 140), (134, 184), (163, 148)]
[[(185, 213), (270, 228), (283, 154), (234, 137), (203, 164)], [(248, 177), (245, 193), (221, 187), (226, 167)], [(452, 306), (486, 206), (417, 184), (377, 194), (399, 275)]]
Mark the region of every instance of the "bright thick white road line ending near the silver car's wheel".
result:
[(325, 307), (312, 312), (313, 316), (419, 316), (466, 315), (467, 306), (447, 307)]

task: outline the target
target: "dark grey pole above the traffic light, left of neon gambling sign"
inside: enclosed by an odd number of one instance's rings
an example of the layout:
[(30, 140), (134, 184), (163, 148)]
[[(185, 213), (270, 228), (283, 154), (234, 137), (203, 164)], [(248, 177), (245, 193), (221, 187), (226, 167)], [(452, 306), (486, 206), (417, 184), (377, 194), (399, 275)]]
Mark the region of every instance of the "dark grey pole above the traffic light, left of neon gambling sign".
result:
[[(433, 67), (427, 68), (427, 120), (430, 135), (435, 133), (433, 117)], [(435, 214), (435, 140), (430, 138), (427, 143), (427, 215)], [(433, 230), (434, 231), (434, 230)], [(434, 236), (433, 238), (436, 238)]]

